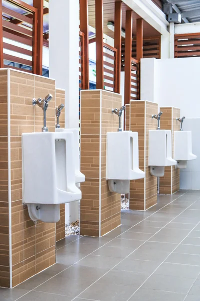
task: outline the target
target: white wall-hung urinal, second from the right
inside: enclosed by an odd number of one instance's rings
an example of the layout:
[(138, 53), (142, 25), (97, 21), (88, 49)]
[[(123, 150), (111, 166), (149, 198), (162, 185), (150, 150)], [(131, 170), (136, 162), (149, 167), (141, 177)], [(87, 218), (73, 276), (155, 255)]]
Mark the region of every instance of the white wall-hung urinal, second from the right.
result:
[(176, 165), (171, 158), (171, 131), (165, 129), (148, 131), (148, 166), (150, 174), (164, 176), (164, 167)]

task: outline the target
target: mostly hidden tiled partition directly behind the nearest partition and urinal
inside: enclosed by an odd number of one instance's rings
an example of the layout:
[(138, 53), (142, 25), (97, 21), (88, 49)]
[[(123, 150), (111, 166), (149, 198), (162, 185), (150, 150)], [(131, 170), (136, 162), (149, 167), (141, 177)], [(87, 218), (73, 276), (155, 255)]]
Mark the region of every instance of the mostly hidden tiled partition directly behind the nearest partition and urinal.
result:
[[(55, 107), (64, 104), (65, 92), (62, 89), (55, 89)], [(56, 118), (55, 118), (56, 122)], [(60, 128), (64, 128), (64, 108), (59, 116)], [(65, 204), (60, 204), (60, 220), (56, 223), (56, 241), (65, 237)]]

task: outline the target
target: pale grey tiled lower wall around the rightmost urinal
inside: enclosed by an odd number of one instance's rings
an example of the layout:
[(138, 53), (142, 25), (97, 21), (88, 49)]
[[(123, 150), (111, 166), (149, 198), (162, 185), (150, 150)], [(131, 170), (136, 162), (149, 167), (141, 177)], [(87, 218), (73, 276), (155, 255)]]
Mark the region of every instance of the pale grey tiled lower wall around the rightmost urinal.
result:
[(183, 130), (191, 131), (192, 153), (196, 160), (188, 161), (187, 168), (180, 170), (180, 189), (200, 189), (200, 118), (185, 118)]

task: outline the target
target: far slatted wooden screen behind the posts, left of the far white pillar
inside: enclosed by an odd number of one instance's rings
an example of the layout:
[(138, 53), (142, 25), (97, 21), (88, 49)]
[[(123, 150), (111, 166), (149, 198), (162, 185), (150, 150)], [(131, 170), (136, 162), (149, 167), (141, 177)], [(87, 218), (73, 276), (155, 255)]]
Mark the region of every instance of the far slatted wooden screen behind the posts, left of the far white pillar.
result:
[[(136, 41), (132, 41), (132, 58), (136, 59)], [(160, 59), (160, 36), (143, 38), (143, 58)], [(121, 71), (125, 66), (125, 41), (121, 42)]]

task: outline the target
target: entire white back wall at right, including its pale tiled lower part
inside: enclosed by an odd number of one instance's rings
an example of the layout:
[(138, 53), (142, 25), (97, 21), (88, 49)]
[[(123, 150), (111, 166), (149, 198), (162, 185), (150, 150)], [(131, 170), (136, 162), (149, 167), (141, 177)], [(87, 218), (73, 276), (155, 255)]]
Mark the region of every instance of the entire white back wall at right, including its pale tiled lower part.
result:
[(158, 106), (180, 108), (186, 119), (183, 130), (192, 131), (193, 154), (197, 159), (180, 172), (181, 189), (200, 189), (200, 58), (142, 59), (141, 99)]

